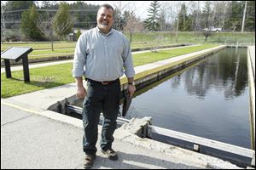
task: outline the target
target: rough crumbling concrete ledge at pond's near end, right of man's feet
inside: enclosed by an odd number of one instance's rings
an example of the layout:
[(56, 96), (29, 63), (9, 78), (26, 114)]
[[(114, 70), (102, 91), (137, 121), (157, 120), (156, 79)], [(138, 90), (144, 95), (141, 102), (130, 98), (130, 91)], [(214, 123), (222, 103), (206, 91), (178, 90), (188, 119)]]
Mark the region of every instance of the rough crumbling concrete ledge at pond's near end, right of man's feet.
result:
[[(172, 156), (173, 160), (177, 162), (188, 163), (189, 165), (201, 165), (202, 168), (218, 168), (218, 169), (241, 169), (229, 161), (223, 161), (216, 157), (203, 155), (201, 153), (185, 150), (183, 148), (173, 146), (172, 144), (164, 144), (152, 139), (139, 138), (136, 134), (139, 129), (142, 129), (151, 117), (144, 117), (143, 119), (134, 118), (130, 123), (125, 123), (119, 127), (114, 133), (114, 139), (119, 139), (124, 143), (131, 143), (138, 147), (147, 148), (149, 150), (156, 150), (165, 153), (166, 156)], [(181, 162), (181, 160), (183, 160)]]

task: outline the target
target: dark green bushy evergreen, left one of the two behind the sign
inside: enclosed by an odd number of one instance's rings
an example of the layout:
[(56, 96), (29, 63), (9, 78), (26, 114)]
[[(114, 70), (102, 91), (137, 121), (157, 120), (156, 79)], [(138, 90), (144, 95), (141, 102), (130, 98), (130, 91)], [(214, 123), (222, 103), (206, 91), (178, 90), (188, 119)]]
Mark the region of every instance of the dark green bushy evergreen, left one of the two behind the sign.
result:
[(24, 33), (25, 37), (31, 40), (42, 40), (42, 32), (38, 29), (38, 11), (35, 4), (29, 10), (24, 11), (21, 14), (21, 31)]

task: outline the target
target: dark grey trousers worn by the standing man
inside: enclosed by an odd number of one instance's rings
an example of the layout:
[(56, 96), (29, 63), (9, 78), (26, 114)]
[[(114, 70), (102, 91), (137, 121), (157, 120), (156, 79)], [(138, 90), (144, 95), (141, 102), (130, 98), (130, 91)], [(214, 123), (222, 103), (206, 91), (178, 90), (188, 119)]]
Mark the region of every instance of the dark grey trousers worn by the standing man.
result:
[(113, 132), (117, 127), (117, 116), (119, 114), (119, 79), (108, 85), (100, 82), (87, 81), (87, 96), (83, 103), (83, 125), (84, 138), (83, 149), (86, 154), (96, 153), (96, 141), (98, 137), (98, 122), (100, 114), (103, 113), (102, 139), (100, 142), (102, 150), (112, 148)]

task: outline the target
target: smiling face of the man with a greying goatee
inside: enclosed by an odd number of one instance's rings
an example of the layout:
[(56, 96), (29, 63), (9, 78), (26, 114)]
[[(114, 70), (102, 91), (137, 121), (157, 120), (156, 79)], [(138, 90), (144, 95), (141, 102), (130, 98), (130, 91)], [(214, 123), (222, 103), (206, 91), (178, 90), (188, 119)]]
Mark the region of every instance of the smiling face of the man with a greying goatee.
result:
[(113, 11), (111, 8), (102, 7), (97, 14), (97, 26), (104, 33), (108, 33), (113, 25)]

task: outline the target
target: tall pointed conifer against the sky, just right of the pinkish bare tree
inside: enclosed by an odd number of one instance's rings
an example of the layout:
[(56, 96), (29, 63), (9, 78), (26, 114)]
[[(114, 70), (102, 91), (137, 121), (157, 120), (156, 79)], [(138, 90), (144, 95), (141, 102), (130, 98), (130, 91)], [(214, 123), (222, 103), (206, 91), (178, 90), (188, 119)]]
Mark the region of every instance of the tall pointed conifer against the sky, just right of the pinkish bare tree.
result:
[(144, 21), (149, 31), (158, 31), (160, 29), (159, 10), (160, 3), (158, 1), (154, 1), (150, 4), (148, 8), (148, 19)]

